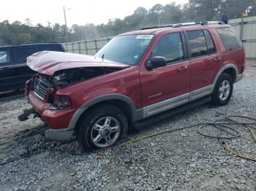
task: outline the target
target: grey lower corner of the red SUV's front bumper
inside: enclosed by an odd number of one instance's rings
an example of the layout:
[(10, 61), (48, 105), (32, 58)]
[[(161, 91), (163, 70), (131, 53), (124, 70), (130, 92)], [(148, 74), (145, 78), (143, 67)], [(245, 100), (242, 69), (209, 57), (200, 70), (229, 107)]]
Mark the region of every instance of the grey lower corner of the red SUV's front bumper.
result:
[(51, 141), (69, 142), (72, 136), (75, 134), (75, 130), (70, 129), (48, 129), (45, 130), (45, 138)]

